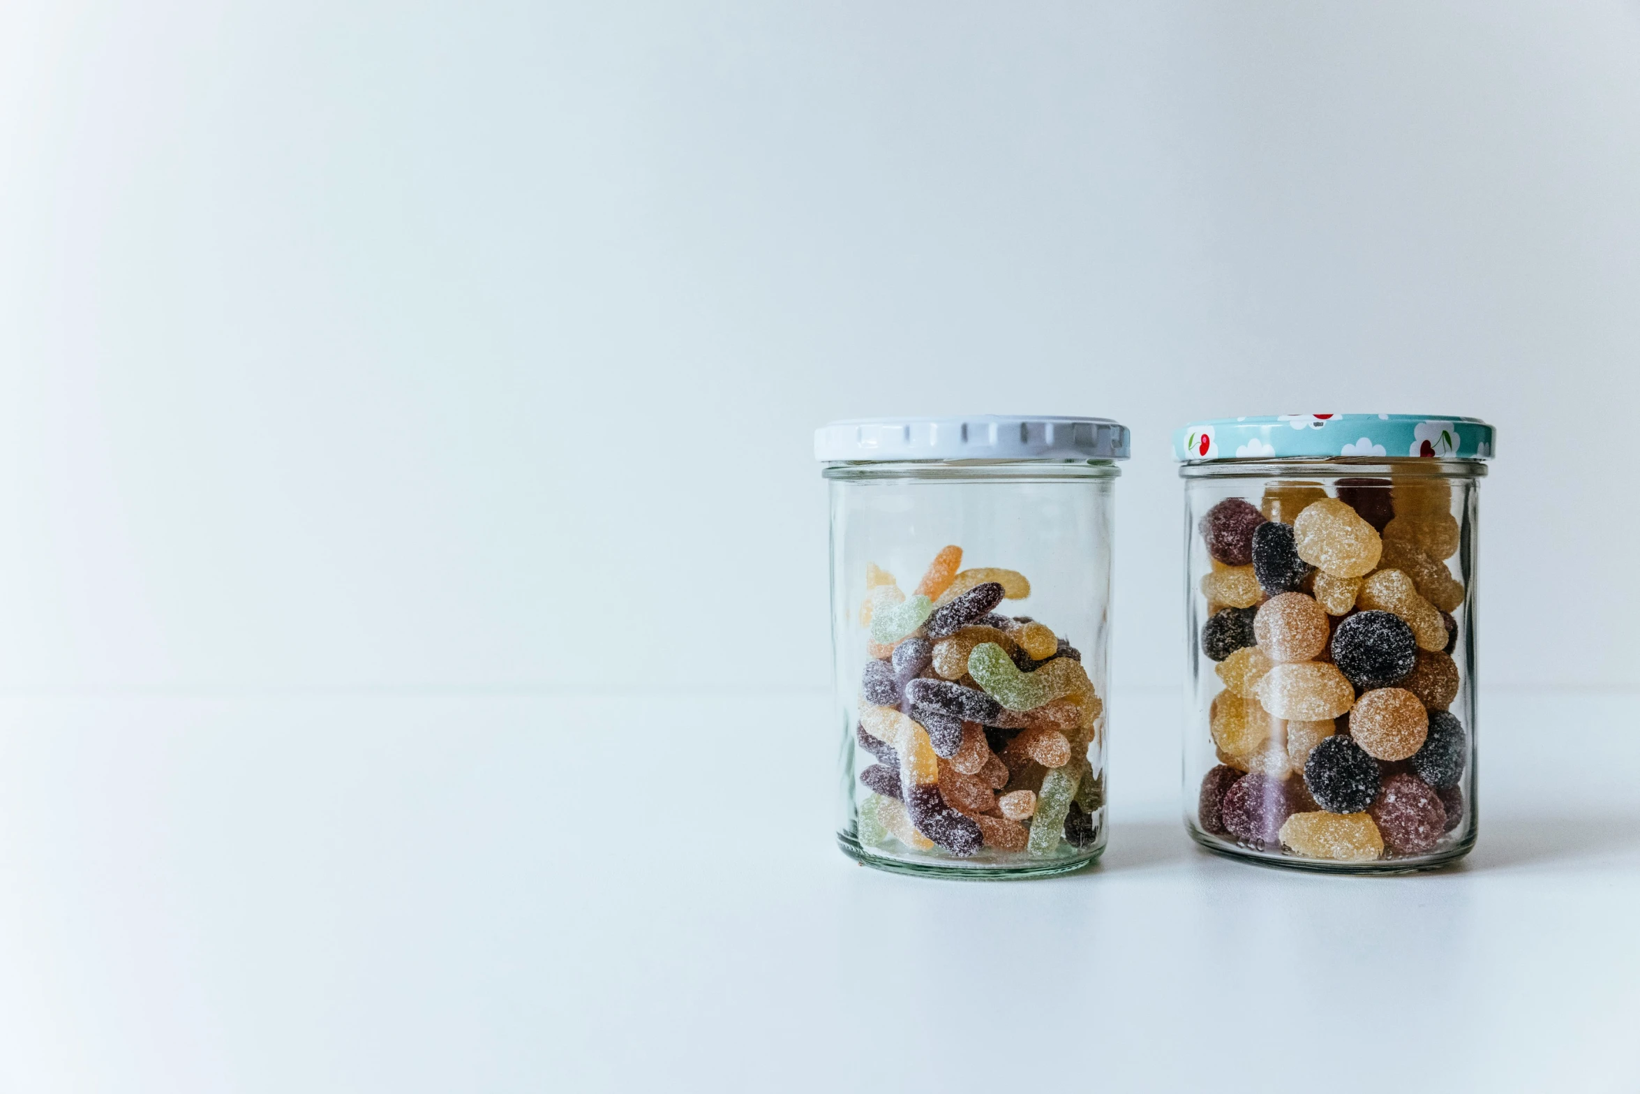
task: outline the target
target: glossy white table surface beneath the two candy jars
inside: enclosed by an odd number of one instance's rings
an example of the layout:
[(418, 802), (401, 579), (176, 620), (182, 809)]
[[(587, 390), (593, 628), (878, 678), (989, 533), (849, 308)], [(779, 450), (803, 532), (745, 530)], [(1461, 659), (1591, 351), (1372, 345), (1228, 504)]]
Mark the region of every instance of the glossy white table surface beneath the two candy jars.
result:
[(1635, 695), (1499, 692), (1481, 841), (1223, 861), (1178, 704), (1112, 843), (864, 869), (822, 695), (0, 702), (7, 1091), (1633, 1091)]

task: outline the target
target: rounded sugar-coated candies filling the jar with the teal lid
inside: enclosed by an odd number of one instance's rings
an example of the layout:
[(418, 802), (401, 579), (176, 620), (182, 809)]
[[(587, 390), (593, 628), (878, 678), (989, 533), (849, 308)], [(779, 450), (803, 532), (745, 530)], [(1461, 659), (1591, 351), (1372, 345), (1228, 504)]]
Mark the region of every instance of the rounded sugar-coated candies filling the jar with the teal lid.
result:
[(1202, 653), (1219, 766), (1204, 832), (1263, 851), (1417, 858), (1463, 820), (1469, 754), (1448, 707), (1463, 584), (1443, 479), (1271, 482), (1214, 505), (1199, 531)]

